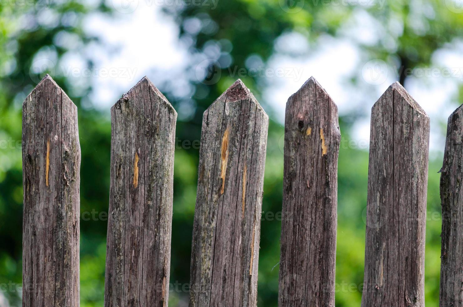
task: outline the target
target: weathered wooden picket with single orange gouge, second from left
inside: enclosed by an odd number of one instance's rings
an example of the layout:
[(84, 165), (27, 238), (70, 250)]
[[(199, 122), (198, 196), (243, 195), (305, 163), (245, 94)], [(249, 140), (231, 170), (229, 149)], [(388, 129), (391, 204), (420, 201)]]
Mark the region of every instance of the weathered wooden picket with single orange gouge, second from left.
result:
[(105, 307), (168, 306), (176, 119), (146, 77), (111, 109)]

